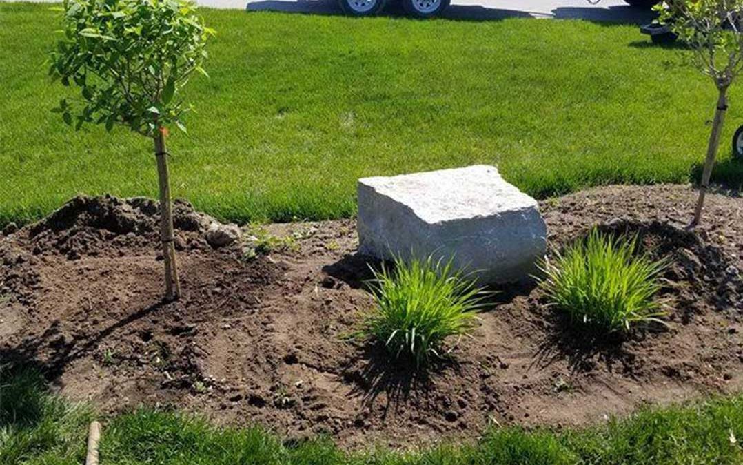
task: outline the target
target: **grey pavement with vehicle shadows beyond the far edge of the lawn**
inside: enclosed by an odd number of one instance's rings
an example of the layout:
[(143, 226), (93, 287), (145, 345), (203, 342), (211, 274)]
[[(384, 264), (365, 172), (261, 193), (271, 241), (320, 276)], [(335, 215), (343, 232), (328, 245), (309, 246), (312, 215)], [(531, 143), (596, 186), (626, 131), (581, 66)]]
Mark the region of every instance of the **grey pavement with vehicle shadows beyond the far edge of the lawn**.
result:
[[(0, 0), (4, 1), (4, 0)], [(57, 0), (31, 0), (57, 1)], [(272, 10), (290, 13), (321, 15), (342, 14), (337, 0), (196, 0), (204, 7), (233, 8), (238, 10)], [(395, 2), (389, 0), (383, 14), (403, 14)], [(650, 22), (652, 13), (634, 8), (623, 0), (600, 0), (596, 4), (588, 0), (452, 0), (443, 15), (450, 19), (472, 19), (479, 21), (510, 17), (585, 19), (597, 22)]]

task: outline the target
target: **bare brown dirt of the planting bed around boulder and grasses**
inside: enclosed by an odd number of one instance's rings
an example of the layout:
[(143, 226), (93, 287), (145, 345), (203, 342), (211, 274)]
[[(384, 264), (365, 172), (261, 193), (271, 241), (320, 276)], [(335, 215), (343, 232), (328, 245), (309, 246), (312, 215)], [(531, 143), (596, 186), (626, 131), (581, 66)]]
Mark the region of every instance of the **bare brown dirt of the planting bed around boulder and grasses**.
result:
[(77, 199), (0, 236), (0, 360), (36, 364), (106, 412), (178, 406), (298, 438), (392, 446), (473, 438), (490, 422), (600, 421), (642, 403), (743, 386), (743, 201), (710, 195), (684, 230), (687, 186), (609, 186), (545, 201), (551, 247), (588, 227), (638, 232), (672, 266), (669, 328), (624, 341), (571, 331), (538, 288), (509, 287), (452, 361), (414, 376), (348, 340), (371, 308), (354, 223), (270, 225), (256, 258), (204, 241), (210, 218), (176, 208), (184, 297), (163, 305), (155, 204)]

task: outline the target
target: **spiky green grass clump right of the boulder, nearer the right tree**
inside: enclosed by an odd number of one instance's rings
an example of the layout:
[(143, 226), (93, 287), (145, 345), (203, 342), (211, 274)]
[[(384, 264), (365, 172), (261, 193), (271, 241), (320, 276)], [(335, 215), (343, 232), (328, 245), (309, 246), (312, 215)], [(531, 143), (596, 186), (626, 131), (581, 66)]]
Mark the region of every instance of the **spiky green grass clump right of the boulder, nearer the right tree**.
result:
[(666, 312), (655, 299), (666, 261), (637, 252), (637, 236), (616, 237), (592, 230), (540, 267), (540, 285), (551, 304), (573, 322), (629, 331), (640, 322), (661, 322)]

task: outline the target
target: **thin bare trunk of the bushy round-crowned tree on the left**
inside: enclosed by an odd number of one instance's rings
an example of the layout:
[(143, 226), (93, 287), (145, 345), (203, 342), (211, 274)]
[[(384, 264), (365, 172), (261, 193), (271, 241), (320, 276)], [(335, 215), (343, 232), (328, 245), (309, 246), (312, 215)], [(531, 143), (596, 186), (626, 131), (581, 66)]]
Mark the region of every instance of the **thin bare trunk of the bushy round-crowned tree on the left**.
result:
[(162, 129), (155, 133), (155, 157), (158, 159), (158, 183), (160, 184), (160, 242), (163, 246), (163, 262), (165, 263), (165, 299), (175, 300), (181, 296), (181, 282), (178, 281), (178, 264), (175, 261), (168, 154), (165, 149), (165, 133)]

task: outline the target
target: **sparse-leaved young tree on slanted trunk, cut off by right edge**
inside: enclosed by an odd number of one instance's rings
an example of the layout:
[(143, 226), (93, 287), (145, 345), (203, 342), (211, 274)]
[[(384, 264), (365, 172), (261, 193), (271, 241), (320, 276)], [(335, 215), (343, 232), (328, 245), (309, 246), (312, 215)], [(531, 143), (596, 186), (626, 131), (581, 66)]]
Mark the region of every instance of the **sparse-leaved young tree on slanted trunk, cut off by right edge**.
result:
[(658, 21), (669, 25), (692, 50), (692, 61), (717, 88), (715, 117), (699, 186), (692, 226), (699, 223), (704, 195), (720, 145), (727, 90), (743, 69), (743, 0), (670, 0), (656, 5)]

